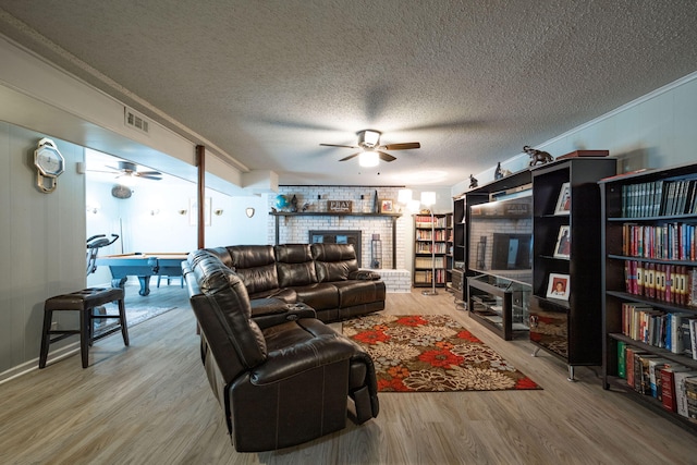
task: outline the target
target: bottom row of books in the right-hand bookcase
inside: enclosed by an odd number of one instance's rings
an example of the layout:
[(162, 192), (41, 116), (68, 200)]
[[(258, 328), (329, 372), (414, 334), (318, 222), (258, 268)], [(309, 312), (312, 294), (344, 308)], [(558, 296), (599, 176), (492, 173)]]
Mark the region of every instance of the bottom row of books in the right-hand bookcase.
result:
[(617, 375), (636, 392), (660, 401), (667, 411), (697, 421), (697, 370), (694, 368), (619, 342)]

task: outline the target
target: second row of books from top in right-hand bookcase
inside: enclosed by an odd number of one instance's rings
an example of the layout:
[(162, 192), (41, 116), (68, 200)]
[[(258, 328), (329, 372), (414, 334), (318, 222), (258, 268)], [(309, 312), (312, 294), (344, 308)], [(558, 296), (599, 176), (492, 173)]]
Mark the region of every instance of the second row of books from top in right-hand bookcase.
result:
[(695, 224), (635, 224), (622, 227), (622, 254), (629, 257), (696, 260)]

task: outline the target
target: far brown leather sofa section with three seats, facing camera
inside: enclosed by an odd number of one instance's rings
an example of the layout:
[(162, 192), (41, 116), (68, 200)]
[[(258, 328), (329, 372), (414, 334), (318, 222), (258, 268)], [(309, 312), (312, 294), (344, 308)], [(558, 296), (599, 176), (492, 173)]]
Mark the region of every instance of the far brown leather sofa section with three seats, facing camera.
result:
[[(325, 322), (384, 309), (384, 282), (380, 274), (358, 269), (352, 244), (235, 245), (207, 250), (237, 273), (253, 302), (304, 303)], [(253, 303), (253, 307), (264, 304)]]

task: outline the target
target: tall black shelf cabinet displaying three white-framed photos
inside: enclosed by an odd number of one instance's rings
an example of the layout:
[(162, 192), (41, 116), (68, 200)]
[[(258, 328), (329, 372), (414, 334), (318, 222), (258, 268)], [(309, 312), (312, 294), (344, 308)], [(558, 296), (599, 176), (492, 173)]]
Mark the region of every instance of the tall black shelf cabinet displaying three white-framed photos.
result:
[[(533, 169), (530, 341), (574, 366), (601, 365), (598, 181), (614, 158), (558, 159)], [(559, 287), (557, 287), (559, 286)]]

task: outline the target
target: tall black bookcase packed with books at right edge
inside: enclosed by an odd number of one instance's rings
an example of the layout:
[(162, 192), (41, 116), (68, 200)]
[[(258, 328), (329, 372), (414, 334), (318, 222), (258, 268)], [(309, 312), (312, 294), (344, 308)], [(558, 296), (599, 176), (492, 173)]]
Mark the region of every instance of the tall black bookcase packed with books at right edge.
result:
[[(603, 388), (628, 393), (697, 432), (685, 409), (664, 405), (670, 396), (659, 401), (645, 389), (645, 366), (653, 366), (655, 375), (658, 366), (665, 376), (659, 382), (674, 383), (669, 392), (685, 406), (677, 372), (660, 367), (697, 376), (689, 340), (689, 320), (697, 318), (697, 164), (623, 174), (601, 181), (600, 188)], [(692, 413), (697, 416), (694, 405)]]

